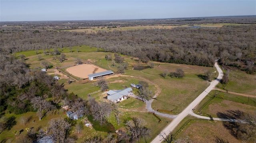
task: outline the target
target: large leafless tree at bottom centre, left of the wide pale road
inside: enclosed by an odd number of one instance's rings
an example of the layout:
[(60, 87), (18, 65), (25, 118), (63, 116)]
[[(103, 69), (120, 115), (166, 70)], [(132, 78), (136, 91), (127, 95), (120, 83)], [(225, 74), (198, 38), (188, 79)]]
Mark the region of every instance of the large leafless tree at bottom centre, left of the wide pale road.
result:
[(145, 121), (141, 118), (132, 118), (125, 122), (128, 135), (140, 143), (140, 138), (150, 135), (151, 130), (146, 128)]

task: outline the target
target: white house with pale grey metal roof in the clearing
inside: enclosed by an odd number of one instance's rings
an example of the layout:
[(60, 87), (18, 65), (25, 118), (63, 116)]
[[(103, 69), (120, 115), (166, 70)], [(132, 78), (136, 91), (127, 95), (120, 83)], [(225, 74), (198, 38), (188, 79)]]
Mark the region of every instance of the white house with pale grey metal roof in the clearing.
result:
[(108, 94), (107, 99), (115, 103), (121, 102), (122, 100), (127, 99), (130, 91), (132, 91), (132, 88), (130, 87), (123, 90), (109, 90), (107, 92)]

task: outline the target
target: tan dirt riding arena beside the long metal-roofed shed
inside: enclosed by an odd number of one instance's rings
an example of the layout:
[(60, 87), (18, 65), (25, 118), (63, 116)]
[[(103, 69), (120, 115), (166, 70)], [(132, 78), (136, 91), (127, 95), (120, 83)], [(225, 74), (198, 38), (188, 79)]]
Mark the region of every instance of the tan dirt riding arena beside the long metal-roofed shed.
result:
[(101, 69), (100, 67), (96, 67), (92, 64), (83, 64), (77, 65), (74, 67), (69, 67), (66, 69), (70, 74), (80, 77), (80, 78), (88, 78), (88, 74), (98, 73), (107, 71), (105, 69)]

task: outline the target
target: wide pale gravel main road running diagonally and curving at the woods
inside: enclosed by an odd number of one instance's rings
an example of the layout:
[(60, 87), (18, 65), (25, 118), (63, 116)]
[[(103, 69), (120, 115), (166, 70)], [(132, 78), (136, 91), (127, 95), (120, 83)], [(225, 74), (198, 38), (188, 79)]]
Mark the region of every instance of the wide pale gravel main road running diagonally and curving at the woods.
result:
[[(206, 88), (206, 90), (204, 90), (193, 102), (191, 102), (188, 107), (183, 110), (180, 114), (178, 114), (178, 116), (172, 120), (172, 122), (167, 125), (160, 133), (162, 135), (164, 135), (164, 137), (166, 137), (166, 135), (168, 135), (170, 132), (172, 132), (174, 130), (174, 128), (180, 123), (180, 121), (182, 121), (182, 119), (184, 119), (189, 113), (190, 111), (196, 107), (196, 105), (198, 105), (203, 99), (204, 97), (211, 91), (214, 89), (214, 87), (220, 82), (220, 80), (223, 77), (223, 71), (220, 69), (220, 67), (218, 66), (217, 63), (214, 64), (214, 66), (216, 67), (217, 71), (218, 71), (218, 77), (216, 78), (216, 80), (212, 81), (210, 83), (210, 85), (208, 86), (208, 88)], [(151, 143), (161, 143), (162, 142), (162, 136), (157, 135), (152, 141)]]

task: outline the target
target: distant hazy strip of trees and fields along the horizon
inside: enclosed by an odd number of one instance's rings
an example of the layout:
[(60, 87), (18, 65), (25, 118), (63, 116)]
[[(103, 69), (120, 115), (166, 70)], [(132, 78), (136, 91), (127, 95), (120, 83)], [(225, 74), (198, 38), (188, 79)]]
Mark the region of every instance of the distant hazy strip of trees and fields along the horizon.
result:
[[(68, 20), (68, 21), (34, 21), (34, 22), (1, 22), (2, 25), (19, 26), (18, 28), (40, 29), (81, 29), (91, 27), (115, 27), (138, 25), (186, 25), (186, 24), (255, 24), (256, 16), (224, 16), (201, 18), (162, 18), (162, 19), (136, 19), (136, 20)], [(7, 28), (7, 27), (4, 27)], [(10, 27), (9, 27), (10, 28)], [(12, 27), (15, 28), (15, 27)]]

